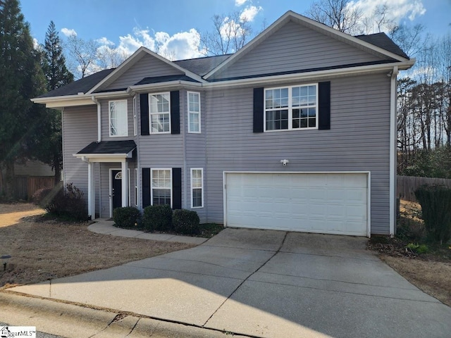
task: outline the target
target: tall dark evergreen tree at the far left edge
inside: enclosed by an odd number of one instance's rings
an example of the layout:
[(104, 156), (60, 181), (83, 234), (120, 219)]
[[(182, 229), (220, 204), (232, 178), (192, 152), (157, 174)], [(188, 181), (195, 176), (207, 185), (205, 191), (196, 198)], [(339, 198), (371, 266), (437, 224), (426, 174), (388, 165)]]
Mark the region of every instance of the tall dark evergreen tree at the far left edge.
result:
[(42, 108), (30, 98), (45, 89), (39, 53), (18, 0), (0, 0), (0, 172), (2, 190), (13, 197), (14, 163), (26, 152)]

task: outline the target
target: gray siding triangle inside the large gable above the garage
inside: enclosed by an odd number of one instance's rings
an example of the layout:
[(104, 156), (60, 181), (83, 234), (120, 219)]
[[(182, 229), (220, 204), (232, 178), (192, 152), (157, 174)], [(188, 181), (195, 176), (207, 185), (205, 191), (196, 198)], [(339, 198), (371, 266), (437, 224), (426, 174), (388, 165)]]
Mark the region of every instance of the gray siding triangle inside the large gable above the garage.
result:
[(378, 56), (290, 22), (230, 65), (230, 68), (219, 71), (214, 78), (289, 72), (380, 60)]

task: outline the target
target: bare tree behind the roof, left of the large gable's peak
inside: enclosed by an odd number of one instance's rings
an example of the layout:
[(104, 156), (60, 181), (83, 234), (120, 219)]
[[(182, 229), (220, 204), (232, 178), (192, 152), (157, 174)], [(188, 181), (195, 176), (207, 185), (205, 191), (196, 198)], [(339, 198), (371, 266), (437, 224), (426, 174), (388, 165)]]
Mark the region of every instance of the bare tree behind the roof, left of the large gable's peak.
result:
[(235, 53), (252, 37), (249, 20), (239, 11), (229, 15), (214, 15), (213, 30), (201, 36), (205, 55)]

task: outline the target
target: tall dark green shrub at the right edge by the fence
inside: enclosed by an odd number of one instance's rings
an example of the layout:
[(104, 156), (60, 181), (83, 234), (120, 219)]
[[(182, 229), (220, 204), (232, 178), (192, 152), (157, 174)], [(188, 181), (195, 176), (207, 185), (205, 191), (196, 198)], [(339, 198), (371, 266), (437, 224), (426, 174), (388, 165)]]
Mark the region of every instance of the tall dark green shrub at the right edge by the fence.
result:
[(416, 199), (428, 237), (446, 243), (451, 238), (451, 188), (441, 185), (424, 185), (416, 189)]

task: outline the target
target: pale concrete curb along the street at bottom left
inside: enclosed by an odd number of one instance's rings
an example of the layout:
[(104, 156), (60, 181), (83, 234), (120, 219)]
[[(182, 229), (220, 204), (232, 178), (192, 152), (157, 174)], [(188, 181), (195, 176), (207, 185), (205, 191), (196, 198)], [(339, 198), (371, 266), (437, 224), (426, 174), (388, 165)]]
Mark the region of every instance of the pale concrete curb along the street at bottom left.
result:
[(67, 338), (249, 337), (7, 291), (0, 292), (0, 321)]

